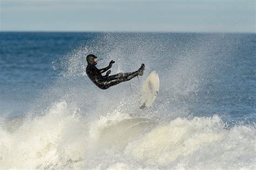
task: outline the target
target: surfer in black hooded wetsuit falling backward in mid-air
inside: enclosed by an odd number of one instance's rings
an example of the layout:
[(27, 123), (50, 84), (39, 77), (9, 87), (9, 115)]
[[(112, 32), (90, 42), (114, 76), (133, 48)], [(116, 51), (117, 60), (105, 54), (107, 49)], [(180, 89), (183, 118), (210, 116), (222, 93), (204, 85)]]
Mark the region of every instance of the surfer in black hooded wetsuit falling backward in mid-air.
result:
[[(98, 63), (98, 58), (95, 55), (88, 55), (86, 57), (86, 61), (88, 64), (86, 67), (87, 76), (92, 80), (94, 84), (96, 84), (96, 86), (103, 90), (109, 89), (109, 87), (117, 85), (124, 81), (129, 81), (136, 76), (142, 76), (145, 70), (145, 65), (142, 64), (142, 66), (140, 66), (139, 70), (137, 71), (130, 73), (118, 73), (109, 76), (109, 74), (111, 73), (111, 70), (109, 69), (112, 67), (112, 64), (114, 64), (113, 60), (111, 60), (109, 66), (103, 69), (97, 69), (96, 64)], [(106, 72), (106, 75), (102, 76), (102, 73), (104, 72)]]

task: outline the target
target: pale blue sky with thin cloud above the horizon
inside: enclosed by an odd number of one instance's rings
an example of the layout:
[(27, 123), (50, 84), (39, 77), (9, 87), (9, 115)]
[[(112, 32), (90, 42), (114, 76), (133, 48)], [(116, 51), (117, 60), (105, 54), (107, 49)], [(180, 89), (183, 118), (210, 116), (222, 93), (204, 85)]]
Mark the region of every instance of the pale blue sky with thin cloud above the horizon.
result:
[(0, 1), (1, 31), (255, 32), (255, 1)]

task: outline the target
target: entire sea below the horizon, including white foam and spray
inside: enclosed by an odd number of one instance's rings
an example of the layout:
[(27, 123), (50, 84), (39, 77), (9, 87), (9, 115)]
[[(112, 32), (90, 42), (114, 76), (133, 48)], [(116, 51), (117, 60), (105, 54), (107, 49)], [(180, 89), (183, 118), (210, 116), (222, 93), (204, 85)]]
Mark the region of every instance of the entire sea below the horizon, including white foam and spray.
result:
[[(1, 169), (256, 169), (255, 33), (0, 32), (0, 46)], [(91, 53), (144, 75), (100, 90)]]

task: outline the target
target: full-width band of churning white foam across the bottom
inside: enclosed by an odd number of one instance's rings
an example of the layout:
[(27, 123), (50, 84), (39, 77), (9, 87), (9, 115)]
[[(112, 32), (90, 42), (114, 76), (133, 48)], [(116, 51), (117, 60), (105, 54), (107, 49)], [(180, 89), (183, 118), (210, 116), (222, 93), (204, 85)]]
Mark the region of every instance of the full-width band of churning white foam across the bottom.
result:
[(78, 113), (62, 101), (14, 130), (1, 125), (0, 168), (256, 168), (253, 126), (118, 111), (86, 122)]

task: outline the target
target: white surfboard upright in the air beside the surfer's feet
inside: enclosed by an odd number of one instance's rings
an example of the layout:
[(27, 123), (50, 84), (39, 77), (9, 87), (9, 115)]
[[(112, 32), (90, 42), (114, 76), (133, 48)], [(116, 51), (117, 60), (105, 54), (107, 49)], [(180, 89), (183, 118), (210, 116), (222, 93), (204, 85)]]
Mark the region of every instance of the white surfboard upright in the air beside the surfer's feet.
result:
[(159, 91), (159, 77), (156, 71), (152, 71), (142, 85), (142, 106), (150, 107), (157, 97)]

